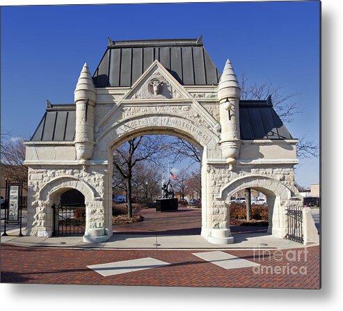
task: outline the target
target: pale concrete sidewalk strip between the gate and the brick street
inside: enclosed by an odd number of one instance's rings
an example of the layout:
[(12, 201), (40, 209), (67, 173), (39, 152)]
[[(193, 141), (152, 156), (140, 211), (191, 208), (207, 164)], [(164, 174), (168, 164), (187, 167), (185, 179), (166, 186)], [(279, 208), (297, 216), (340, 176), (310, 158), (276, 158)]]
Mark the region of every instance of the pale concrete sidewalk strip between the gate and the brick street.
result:
[[(19, 230), (13, 230), (8, 237), (1, 237), (1, 244), (26, 247), (88, 248), (88, 249), (251, 249), (251, 248), (303, 248), (303, 244), (278, 239), (265, 233), (232, 234), (237, 243), (210, 244), (200, 235), (160, 235), (160, 234), (118, 234), (115, 233), (104, 243), (90, 244), (82, 237), (17, 237)], [(314, 245), (314, 244), (313, 244)]]

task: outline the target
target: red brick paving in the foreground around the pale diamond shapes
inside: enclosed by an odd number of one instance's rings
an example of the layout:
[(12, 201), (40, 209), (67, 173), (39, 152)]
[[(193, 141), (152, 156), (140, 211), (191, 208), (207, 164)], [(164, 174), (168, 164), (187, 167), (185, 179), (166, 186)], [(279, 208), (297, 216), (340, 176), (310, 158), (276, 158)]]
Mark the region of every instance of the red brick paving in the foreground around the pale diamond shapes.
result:
[[(39, 284), (87, 285), (152, 285), (185, 287), (265, 287), (319, 289), (319, 246), (301, 248), (308, 250), (306, 257), (292, 261), (296, 250), (225, 250), (232, 255), (258, 262), (262, 266), (276, 266), (286, 273), (271, 271), (254, 273), (253, 268), (225, 270), (206, 262), (192, 253), (194, 250), (82, 250), (66, 248), (24, 248), (3, 244), (1, 246), (1, 282)], [(292, 255), (292, 251), (295, 252)], [(260, 250), (262, 252), (262, 250)], [(287, 253), (288, 252), (288, 253)], [(287, 254), (289, 257), (287, 257)], [(291, 256), (292, 255), (292, 256)], [(153, 257), (170, 262), (169, 266), (135, 271), (118, 276), (101, 276), (88, 269), (88, 265), (105, 264), (123, 260)], [(288, 258), (288, 260), (287, 260)], [(262, 269), (262, 266), (261, 269)], [(292, 267), (306, 274), (287, 273)]]

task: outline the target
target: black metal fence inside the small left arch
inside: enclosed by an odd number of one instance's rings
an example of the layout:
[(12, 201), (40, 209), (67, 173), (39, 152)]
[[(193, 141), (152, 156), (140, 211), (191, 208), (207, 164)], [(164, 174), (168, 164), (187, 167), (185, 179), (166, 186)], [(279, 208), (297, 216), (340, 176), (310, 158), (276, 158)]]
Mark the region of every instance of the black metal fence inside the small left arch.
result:
[(54, 237), (61, 235), (83, 235), (86, 230), (86, 207), (53, 205)]

